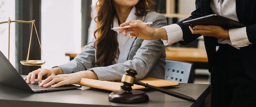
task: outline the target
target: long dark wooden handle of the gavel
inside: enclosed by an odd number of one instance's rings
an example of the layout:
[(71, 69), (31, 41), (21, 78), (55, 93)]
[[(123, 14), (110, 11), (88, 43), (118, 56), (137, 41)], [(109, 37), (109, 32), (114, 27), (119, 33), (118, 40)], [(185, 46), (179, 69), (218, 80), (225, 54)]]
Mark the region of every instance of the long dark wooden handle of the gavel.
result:
[(168, 95), (171, 95), (171, 96), (175, 96), (177, 98), (181, 98), (181, 99), (184, 99), (184, 100), (188, 100), (188, 101), (192, 101), (192, 102), (195, 102), (195, 99), (192, 98), (192, 97), (189, 97), (189, 96), (186, 96), (184, 94), (180, 94), (180, 93), (177, 93), (177, 92), (173, 92), (171, 90), (166, 90), (164, 88), (160, 88), (160, 87), (155, 87), (153, 85), (148, 85), (148, 83), (142, 83), (141, 81), (139, 80), (135, 80), (134, 82), (135, 84), (137, 85), (142, 85), (144, 87), (149, 87), (149, 88), (153, 88), (159, 92), (162, 92), (162, 93), (165, 93), (165, 94), (168, 94)]

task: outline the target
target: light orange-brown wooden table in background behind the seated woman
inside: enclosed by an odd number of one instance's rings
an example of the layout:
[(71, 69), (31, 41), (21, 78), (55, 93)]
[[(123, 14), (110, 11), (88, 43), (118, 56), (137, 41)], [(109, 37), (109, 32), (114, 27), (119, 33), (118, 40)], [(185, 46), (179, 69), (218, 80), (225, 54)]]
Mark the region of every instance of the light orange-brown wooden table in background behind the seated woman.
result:
[[(72, 60), (77, 53), (65, 53), (65, 55)], [(166, 59), (188, 61), (194, 63), (195, 69), (208, 69), (208, 59), (204, 48), (167, 47)]]

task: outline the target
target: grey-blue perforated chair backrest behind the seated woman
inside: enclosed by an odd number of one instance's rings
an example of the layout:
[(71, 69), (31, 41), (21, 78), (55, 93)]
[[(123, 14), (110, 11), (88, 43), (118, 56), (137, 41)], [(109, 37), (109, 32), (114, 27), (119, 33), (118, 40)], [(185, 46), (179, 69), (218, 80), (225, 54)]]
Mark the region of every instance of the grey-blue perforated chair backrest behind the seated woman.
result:
[(193, 63), (166, 59), (165, 80), (193, 83), (194, 75)]

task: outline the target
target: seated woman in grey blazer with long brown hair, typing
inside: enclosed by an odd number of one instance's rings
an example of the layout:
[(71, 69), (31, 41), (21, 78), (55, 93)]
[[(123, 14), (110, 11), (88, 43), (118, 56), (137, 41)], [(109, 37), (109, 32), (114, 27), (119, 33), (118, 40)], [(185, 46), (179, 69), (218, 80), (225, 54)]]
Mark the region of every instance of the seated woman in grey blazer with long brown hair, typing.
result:
[[(120, 81), (127, 68), (137, 71), (136, 79), (153, 77), (164, 79), (165, 47), (160, 39), (143, 40), (120, 35), (111, 30), (126, 20), (153, 22), (153, 28), (167, 24), (166, 17), (152, 11), (151, 0), (98, 0), (94, 31), (95, 41), (90, 42), (74, 60), (63, 65), (34, 70), (24, 80), (38, 83), (43, 87), (79, 83), (81, 78), (101, 81)], [(42, 78), (46, 78), (41, 81)], [(54, 85), (53, 85), (54, 84)]]

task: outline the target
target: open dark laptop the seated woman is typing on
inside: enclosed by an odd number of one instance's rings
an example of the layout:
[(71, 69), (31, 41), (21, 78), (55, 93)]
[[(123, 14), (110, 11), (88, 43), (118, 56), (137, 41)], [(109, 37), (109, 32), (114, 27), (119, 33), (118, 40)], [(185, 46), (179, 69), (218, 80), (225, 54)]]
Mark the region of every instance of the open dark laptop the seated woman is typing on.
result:
[(63, 85), (61, 87), (40, 87), (38, 84), (27, 84), (18, 71), (11, 65), (10, 61), (0, 51), (0, 85), (12, 87), (31, 93), (76, 89), (81, 85)]

